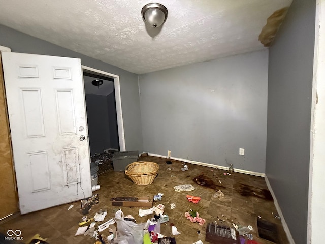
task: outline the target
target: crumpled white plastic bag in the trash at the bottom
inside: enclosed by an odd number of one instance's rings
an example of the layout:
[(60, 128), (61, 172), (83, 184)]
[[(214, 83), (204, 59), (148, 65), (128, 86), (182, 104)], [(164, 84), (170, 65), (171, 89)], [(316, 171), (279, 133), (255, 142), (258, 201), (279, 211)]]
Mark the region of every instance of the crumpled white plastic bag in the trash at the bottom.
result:
[(124, 220), (122, 210), (115, 213), (117, 226), (117, 238), (114, 243), (118, 244), (142, 244), (143, 242), (143, 224), (136, 224), (132, 221)]

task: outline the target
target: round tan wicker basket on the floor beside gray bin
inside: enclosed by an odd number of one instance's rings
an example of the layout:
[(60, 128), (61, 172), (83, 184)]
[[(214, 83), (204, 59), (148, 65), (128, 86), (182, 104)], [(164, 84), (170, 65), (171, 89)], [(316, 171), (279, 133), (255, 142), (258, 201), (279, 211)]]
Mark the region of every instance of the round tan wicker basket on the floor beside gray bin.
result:
[(134, 162), (125, 168), (125, 174), (137, 185), (151, 184), (158, 172), (159, 165), (147, 161)]

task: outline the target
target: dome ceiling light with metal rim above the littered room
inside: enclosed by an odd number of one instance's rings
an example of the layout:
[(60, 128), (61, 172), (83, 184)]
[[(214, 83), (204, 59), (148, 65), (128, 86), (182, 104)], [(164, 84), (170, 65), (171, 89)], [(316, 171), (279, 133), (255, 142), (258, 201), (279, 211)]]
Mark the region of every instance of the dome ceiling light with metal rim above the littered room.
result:
[(143, 6), (141, 14), (146, 23), (156, 28), (165, 23), (168, 16), (168, 10), (162, 4), (150, 3)]

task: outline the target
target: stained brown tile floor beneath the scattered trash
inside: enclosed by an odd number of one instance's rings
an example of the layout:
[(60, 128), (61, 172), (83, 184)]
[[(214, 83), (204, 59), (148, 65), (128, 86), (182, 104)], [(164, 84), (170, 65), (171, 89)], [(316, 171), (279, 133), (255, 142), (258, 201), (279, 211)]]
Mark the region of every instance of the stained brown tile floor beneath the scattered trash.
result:
[[(219, 225), (237, 225), (253, 227), (253, 238), (260, 244), (271, 244), (274, 242), (260, 238), (257, 231), (257, 218), (261, 217), (276, 224), (278, 230), (278, 243), (289, 243), (281, 225), (281, 221), (272, 215), (276, 213), (272, 196), (267, 190), (263, 177), (233, 173), (223, 175), (226, 171), (212, 169), (209, 167), (189, 164), (188, 171), (181, 171), (182, 163), (174, 161), (166, 164), (166, 159), (157, 157), (140, 157), (142, 161), (156, 162), (160, 166), (159, 174), (152, 184), (146, 186), (135, 185), (124, 172), (114, 172), (110, 169), (99, 175), (101, 189), (94, 192), (99, 194), (99, 204), (92, 207), (87, 215), (93, 217), (96, 211), (107, 209), (107, 216), (104, 221), (114, 217), (118, 207), (111, 204), (110, 199), (118, 196), (142, 197), (164, 193), (163, 200), (154, 202), (165, 205), (165, 214), (170, 218), (167, 224), (161, 224), (161, 234), (176, 238), (177, 244), (191, 244), (198, 240), (205, 241), (206, 224), (200, 226), (192, 223), (184, 217), (184, 212), (190, 209), (199, 210), (200, 217), (207, 223), (217, 222)], [(175, 175), (175, 177), (171, 177)], [(199, 185), (199, 184), (201, 185)], [(192, 184), (196, 189), (191, 192), (175, 192), (174, 186), (181, 184)], [(202, 186), (205, 184), (205, 186)], [(224, 197), (215, 198), (215, 189), (220, 189)], [(199, 196), (202, 199), (199, 203), (188, 202), (186, 195)], [(170, 204), (174, 203), (176, 208), (171, 209)], [(67, 210), (71, 205), (61, 206), (37, 211), (31, 214), (18, 216), (0, 225), (0, 233), (6, 234), (9, 229), (19, 229), (24, 237), (24, 242), (35, 234), (48, 238), (48, 243), (94, 243), (90, 236), (75, 236), (78, 223), (81, 222), (82, 212), (80, 201), (72, 203), (74, 207)], [(148, 217), (139, 217), (139, 207), (121, 207), (124, 215), (133, 215), (137, 223), (146, 222)], [(180, 235), (172, 235), (171, 224), (177, 227)], [(197, 231), (201, 234), (198, 235)], [(107, 233), (108, 234), (108, 233)], [(3, 243), (0, 240), (0, 243)]]

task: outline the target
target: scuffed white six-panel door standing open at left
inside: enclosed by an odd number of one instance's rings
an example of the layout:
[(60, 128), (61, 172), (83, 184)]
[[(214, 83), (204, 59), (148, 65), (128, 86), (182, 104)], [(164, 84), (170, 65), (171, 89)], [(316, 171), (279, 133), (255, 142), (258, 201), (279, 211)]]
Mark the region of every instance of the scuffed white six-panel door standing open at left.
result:
[(2, 60), (21, 214), (91, 196), (80, 59)]

